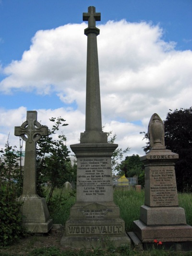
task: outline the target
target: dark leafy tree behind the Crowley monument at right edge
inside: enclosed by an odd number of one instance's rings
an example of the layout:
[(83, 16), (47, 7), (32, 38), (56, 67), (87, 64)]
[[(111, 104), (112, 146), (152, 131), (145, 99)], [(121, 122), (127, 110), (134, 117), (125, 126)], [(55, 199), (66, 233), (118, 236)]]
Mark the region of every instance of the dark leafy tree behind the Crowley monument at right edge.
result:
[[(165, 125), (165, 146), (172, 152), (179, 154), (175, 164), (177, 189), (180, 192), (192, 192), (192, 107), (189, 109), (170, 110)], [(148, 151), (148, 134), (144, 151)]]

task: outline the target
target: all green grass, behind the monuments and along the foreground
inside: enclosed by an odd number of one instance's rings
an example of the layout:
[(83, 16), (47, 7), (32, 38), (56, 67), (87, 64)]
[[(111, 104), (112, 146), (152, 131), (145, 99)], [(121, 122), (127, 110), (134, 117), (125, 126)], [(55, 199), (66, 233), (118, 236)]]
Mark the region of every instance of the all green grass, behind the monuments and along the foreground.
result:
[[(61, 198), (61, 204), (57, 210), (51, 214), (53, 223), (64, 225), (70, 215), (70, 208), (75, 203), (74, 196), (70, 196), (70, 192), (66, 190), (57, 189), (54, 198)], [(187, 223), (192, 225), (192, 194), (178, 194), (179, 206), (185, 209)], [(120, 217), (125, 221), (125, 228), (127, 231), (132, 231), (133, 220), (140, 219), (140, 207), (144, 205), (144, 191), (136, 192), (131, 190), (114, 190), (114, 202), (120, 207)], [(34, 237), (35, 238), (35, 237)], [(38, 239), (38, 238), (37, 238)], [(32, 245), (32, 247), (34, 247)], [(112, 245), (106, 250), (101, 248), (92, 249), (64, 249), (57, 246), (48, 246), (41, 248), (32, 248), (30, 252), (25, 251), (18, 256), (191, 256), (192, 252), (172, 252), (157, 250), (155, 248), (147, 251), (137, 251), (130, 246), (120, 246), (114, 248)], [(0, 256), (17, 256), (15, 253), (8, 253), (6, 250), (0, 252)]]

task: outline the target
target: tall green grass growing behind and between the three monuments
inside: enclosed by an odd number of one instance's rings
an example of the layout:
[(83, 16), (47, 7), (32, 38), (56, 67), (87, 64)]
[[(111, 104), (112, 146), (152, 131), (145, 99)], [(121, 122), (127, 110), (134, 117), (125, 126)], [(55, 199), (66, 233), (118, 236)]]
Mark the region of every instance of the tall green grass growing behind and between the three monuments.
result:
[[(50, 213), (53, 223), (65, 224), (70, 215), (70, 208), (76, 202), (70, 191), (56, 189), (55, 198), (62, 195), (62, 201), (57, 210)], [(192, 225), (192, 194), (178, 194), (179, 206), (185, 209), (187, 224)], [(114, 203), (120, 207), (120, 217), (125, 221), (126, 231), (132, 231), (133, 220), (140, 219), (140, 207), (144, 205), (144, 190), (114, 190)]]

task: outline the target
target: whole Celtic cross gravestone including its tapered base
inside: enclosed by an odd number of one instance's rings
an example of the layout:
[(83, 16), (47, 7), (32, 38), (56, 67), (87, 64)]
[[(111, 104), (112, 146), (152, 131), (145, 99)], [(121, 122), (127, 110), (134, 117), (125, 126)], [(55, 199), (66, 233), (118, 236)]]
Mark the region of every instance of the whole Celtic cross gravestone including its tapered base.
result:
[(36, 194), (36, 141), (48, 135), (48, 127), (37, 122), (37, 112), (27, 111), (27, 120), (21, 126), (15, 126), (15, 136), (25, 141), (24, 184), (22, 213), (23, 224), (29, 232), (44, 233), (52, 227), (45, 198)]

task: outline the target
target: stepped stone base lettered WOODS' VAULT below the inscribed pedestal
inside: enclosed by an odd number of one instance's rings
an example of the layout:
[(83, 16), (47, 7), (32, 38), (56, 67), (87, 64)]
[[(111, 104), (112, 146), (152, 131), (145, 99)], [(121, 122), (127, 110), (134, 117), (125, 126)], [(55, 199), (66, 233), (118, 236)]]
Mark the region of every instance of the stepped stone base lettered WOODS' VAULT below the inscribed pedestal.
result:
[(77, 202), (71, 208), (60, 244), (72, 248), (105, 248), (131, 244), (131, 241), (120, 219), (119, 207), (113, 202)]

